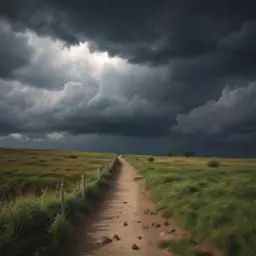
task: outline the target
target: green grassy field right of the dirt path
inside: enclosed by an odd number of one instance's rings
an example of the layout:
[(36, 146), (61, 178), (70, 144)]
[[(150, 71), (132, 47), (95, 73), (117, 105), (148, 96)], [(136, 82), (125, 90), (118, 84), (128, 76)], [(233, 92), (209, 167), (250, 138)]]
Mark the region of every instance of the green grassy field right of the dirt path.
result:
[[(127, 157), (146, 178), (152, 199), (191, 236), (227, 256), (256, 255), (256, 159)], [(177, 255), (202, 255), (188, 238), (165, 241)]]

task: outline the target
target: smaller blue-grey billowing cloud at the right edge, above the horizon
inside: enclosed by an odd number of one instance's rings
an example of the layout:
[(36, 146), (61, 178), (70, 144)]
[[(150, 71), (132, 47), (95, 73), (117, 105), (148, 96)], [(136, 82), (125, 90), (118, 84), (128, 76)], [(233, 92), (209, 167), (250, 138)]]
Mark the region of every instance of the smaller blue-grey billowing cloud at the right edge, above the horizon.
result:
[[(172, 129), (185, 133), (224, 134), (246, 137), (256, 130), (256, 82), (245, 87), (226, 86), (217, 101), (177, 115), (177, 125)], [(231, 134), (231, 135), (230, 135)]]

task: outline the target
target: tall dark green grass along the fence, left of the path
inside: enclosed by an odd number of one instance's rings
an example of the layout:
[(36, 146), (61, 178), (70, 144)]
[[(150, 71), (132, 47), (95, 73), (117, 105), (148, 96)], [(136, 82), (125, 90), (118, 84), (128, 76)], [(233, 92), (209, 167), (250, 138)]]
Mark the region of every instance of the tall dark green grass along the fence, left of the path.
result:
[(71, 241), (72, 222), (78, 212), (89, 212), (110, 184), (117, 161), (102, 179), (87, 186), (86, 200), (79, 188), (65, 193), (65, 215), (60, 214), (59, 193), (28, 196), (2, 204), (0, 211), (0, 255), (63, 255), (63, 244)]

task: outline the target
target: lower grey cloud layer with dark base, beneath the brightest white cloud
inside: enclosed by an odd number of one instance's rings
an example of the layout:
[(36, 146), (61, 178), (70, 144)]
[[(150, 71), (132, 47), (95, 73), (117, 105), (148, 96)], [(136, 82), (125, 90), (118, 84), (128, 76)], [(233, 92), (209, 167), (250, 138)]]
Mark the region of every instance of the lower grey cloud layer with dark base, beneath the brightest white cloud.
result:
[(170, 119), (161, 114), (167, 109), (164, 111), (163, 107), (139, 97), (120, 102), (118, 96), (97, 96), (97, 91), (88, 97), (90, 92), (85, 93), (86, 87), (75, 84), (66, 85), (62, 93), (44, 92), (3, 80), (0, 86), (3, 88), (0, 94), (1, 135), (19, 133), (40, 137), (61, 131), (74, 135), (156, 137), (169, 133)]

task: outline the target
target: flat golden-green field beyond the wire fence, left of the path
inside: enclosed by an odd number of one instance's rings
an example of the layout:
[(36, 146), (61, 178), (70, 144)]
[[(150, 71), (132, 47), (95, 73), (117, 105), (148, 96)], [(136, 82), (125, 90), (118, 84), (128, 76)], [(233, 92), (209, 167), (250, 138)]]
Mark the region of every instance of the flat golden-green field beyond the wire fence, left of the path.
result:
[(93, 179), (95, 170), (113, 157), (110, 153), (0, 148), (0, 198), (53, 190), (63, 179), (72, 188), (81, 174)]

